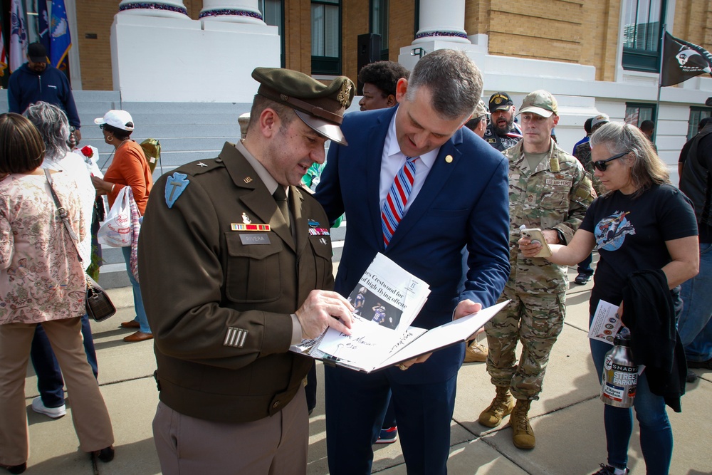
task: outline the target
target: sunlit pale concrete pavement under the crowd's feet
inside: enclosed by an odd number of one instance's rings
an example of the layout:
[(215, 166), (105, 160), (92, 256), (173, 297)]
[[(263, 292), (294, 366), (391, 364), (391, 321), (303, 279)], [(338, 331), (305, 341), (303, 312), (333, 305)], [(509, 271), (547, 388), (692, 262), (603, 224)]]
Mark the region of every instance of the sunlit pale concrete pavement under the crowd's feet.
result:
[[(570, 279), (575, 273), (571, 271)], [(539, 401), (533, 402), (530, 416), (537, 436), (531, 451), (516, 449), (507, 424), (486, 430), (477, 422), (478, 414), (491, 401), (494, 388), (484, 363), (464, 365), (459, 372), (458, 394), (452, 421), (449, 473), (454, 475), (587, 475), (606, 460), (603, 403), (600, 386), (590, 360), (587, 342), (588, 298), (591, 283), (567, 293), (567, 317), (557, 341)], [(130, 288), (110, 290), (119, 308), (117, 315), (103, 323), (93, 323), (99, 360), (99, 382), (115, 434), (116, 457), (109, 464), (93, 466), (87, 454), (78, 451), (71, 418), (49, 419), (32, 411), (38, 395), (31, 366), (26, 378), (27, 414), (30, 427), (30, 475), (152, 475), (160, 473), (152, 439), (151, 422), (158, 402), (152, 377), (155, 358), (152, 342), (124, 343), (130, 334), (119, 324), (133, 318)], [(321, 373), (321, 365), (318, 366)], [(687, 386), (683, 412), (669, 411), (675, 449), (671, 474), (712, 474), (712, 457), (707, 451), (712, 440), (712, 372), (696, 370), (701, 379)], [(322, 375), (320, 374), (320, 378)], [(321, 386), (323, 387), (323, 385)], [(310, 418), (308, 474), (328, 474), (323, 392)], [(634, 475), (645, 473), (638, 443), (637, 426), (629, 451), (629, 467)], [(406, 474), (399, 443), (375, 446), (373, 472)], [(4, 472), (3, 472), (4, 473)]]

